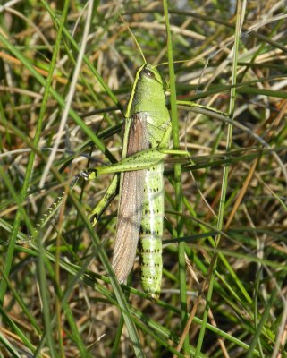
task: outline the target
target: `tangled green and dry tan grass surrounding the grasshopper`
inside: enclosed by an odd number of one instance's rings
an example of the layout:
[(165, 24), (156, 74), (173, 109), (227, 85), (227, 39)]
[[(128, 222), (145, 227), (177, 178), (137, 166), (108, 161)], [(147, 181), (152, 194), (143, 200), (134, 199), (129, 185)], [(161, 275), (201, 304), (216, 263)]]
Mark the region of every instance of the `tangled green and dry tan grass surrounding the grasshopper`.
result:
[[(1, 357), (287, 356), (286, 2), (170, 2), (170, 42), (164, 5), (0, 5)], [(86, 218), (111, 175), (68, 190), (121, 158), (143, 63), (130, 30), (148, 63), (170, 64), (159, 68), (178, 99), (230, 115), (178, 108), (191, 158), (180, 176), (165, 166), (158, 302), (138, 260), (127, 286), (114, 279), (117, 201), (95, 230)]]

